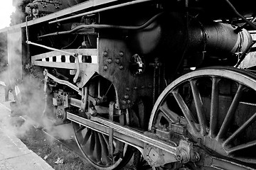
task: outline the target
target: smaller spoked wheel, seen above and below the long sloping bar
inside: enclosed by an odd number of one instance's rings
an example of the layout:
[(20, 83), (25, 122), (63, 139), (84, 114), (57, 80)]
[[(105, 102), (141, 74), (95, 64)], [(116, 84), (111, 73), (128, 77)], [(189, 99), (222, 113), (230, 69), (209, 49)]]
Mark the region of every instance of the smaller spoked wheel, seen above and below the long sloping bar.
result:
[[(90, 112), (93, 110), (103, 118), (110, 118), (109, 100), (112, 101), (115, 98), (114, 86), (110, 82), (97, 79), (96, 77), (90, 86), (87, 86), (87, 94), (86, 111)], [(114, 111), (114, 115), (112, 115), (112, 120), (115, 123), (120, 123), (121, 125), (129, 123), (129, 116), (117, 114), (117, 112)], [(119, 140), (111, 140), (109, 134), (97, 132), (79, 123), (73, 122), (72, 124), (75, 132), (75, 140), (78, 143), (80, 151), (87, 162), (90, 162), (97, 169), (121, 169), (132, 158), (133, 150), (127, 144)]]

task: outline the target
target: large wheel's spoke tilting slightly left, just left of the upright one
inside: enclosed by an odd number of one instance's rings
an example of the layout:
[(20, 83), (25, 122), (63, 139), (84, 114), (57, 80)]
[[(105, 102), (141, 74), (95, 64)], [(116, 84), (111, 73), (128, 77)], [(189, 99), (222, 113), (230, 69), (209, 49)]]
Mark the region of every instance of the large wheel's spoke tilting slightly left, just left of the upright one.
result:
[(193, 99), (195, 101), (196, 113), (198, 115), (201, 134), (206, 135), (206, 118), (203, 115), (203, 102), (201, 101), (201, 96), (196, 86), (196, 80), (191, 80), (190, 84), (191, 84)]

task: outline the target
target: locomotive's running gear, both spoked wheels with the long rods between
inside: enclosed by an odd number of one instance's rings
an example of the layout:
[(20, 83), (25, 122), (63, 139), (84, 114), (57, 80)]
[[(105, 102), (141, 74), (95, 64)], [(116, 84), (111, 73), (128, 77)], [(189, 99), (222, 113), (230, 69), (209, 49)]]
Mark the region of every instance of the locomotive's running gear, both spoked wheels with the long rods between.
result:
[[(114, 102), (90, 108), (89, 103), (96, 103), (90, 92), (85, 97), (88, 102), (84, 112), (67, 110), (65, 116), (73, 122), (85, 157), (99, 169), (118, 168), (123, 163), (120, 158), (129, 161), (133, 149), (124, 143), (139, 149), (154, 167), (253, 169), (255, 155), (248, 154), (247, 149), (255, 146), (255, 99), (248, 97), (255, 94), (254, 84), (255, 74), (230, 67), (186, 74), (159, 96), (149, 131), (129, 128), (129, 109), (120, 110)], [(99, 86), (90, 88), (98, 91)], [(70, 98), (70, 105), (78, 110), (82, 101)], [(90, 145), (89, 151), (85, 144)], [(117, 159), (112, 161), (111, 157)]]

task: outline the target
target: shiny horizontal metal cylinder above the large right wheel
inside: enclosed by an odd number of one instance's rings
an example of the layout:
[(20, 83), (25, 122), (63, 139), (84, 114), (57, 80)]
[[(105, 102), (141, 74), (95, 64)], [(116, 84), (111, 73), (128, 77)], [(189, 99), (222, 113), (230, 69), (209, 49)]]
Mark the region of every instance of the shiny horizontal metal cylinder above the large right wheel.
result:
[(207, 52), (244, 52), (252, 44), (247, 30), (236, 31), (225, 23), (191, 24), (189, 29), (190, 47), (201, 47)]

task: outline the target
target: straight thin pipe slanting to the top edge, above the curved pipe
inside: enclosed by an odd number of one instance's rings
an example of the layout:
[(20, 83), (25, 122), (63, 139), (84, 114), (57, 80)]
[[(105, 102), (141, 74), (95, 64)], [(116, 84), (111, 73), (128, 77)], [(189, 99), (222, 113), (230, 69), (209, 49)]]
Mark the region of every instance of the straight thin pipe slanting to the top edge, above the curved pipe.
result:
[(89, 11), (89, 12), (85, 12), (85, 13), (80, 13), (76, 16), (69, 16), (67, 18), (62, 18), (62, 19), (57, 19), (55, 21), (50, 21), (49, 24), (51, 23), (58, 23), (60, 21), (66, 21), (66, 20), (69, 20), (69, 19), (73, 19), (73, 18), (78, 18), (80, 16), (86, 16), (86, 15), (90, 15), (92, 13), (97, 13), (97, 12), (102, 12), (102, 11), (107, 11), (107, 10), (110, 10), (110, 9), (114, 9), (114, 8), (120, 8), (122, 6), (129, 6), (129, 5), (134, 5), (134, 4), (140, 4), (140, 3), (143, 3), (143, 2), (146, 2), (146, 1), (152, 1), (152, 0), (139, 0), (139, 1), (130, 1), (130, 2), (127, 2), (127, 3), (124, 3), (124, 4), (118, 4), (118, 5), (114, 5), (114, 6), (108, 6), (108, 7), (105, 7), (105, 8), (100, 8), (100, 9), (97, 9), (97, 10), (94, 10), (94, 11)]

